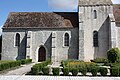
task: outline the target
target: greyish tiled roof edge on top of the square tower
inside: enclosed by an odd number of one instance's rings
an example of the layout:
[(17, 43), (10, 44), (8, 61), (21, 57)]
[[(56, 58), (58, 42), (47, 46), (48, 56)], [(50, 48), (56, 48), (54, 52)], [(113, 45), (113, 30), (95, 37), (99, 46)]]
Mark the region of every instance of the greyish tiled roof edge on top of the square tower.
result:
[(111, 5), (111, 0), (79, 0), (79, 6), (81, 5)]

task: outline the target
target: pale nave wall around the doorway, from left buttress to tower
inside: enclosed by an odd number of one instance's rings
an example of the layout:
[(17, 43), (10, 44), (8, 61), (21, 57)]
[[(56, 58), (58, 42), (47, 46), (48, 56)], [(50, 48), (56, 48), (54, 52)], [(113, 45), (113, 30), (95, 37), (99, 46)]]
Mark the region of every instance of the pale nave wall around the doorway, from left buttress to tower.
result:
[[(70, 47), (63, 45), (64, 34), (70, 36)], [(41, 29), (32, 31), (31, 53), (32, 59), (38, 61), (38, 49), (43, 45), (47, 50), (46, 58), (52, 58), (53, 62), (66, 59), (78, 59), (78, 28), (76, 29)]]

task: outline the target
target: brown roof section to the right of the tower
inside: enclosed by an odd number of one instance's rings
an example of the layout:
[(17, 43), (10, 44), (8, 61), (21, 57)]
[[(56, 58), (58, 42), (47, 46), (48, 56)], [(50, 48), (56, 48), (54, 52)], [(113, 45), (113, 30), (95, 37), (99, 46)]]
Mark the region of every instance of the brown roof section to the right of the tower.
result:
[(120, 27), (120, 4), (113, 5), (113, 13), (115, 17), (116, 26)]

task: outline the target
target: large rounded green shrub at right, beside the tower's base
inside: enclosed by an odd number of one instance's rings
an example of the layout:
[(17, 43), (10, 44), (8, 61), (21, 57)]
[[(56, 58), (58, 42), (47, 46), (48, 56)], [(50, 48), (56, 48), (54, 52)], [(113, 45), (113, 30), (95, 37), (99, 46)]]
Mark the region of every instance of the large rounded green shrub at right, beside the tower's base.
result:
[(120, 50), (118, 48), (112, 48), (107, 52), (109, 62), (120, 62)]

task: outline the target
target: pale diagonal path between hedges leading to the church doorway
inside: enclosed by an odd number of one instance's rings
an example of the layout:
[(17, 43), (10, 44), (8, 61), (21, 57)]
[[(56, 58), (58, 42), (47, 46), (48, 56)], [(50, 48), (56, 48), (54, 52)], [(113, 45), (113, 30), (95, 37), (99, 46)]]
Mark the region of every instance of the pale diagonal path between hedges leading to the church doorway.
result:
[(11, 70), (8, 71), (5, 74), (2, 74), (4, 76), (8, 76), (8, 75), (25, 75), (27, 72), (31, 71), (31, 67), (34, 65), (35, 63), (31, 63), (31, 64), (27, 64), (27, 65), (22, 65), (22, 67), (15, 69), (15, 70)]

